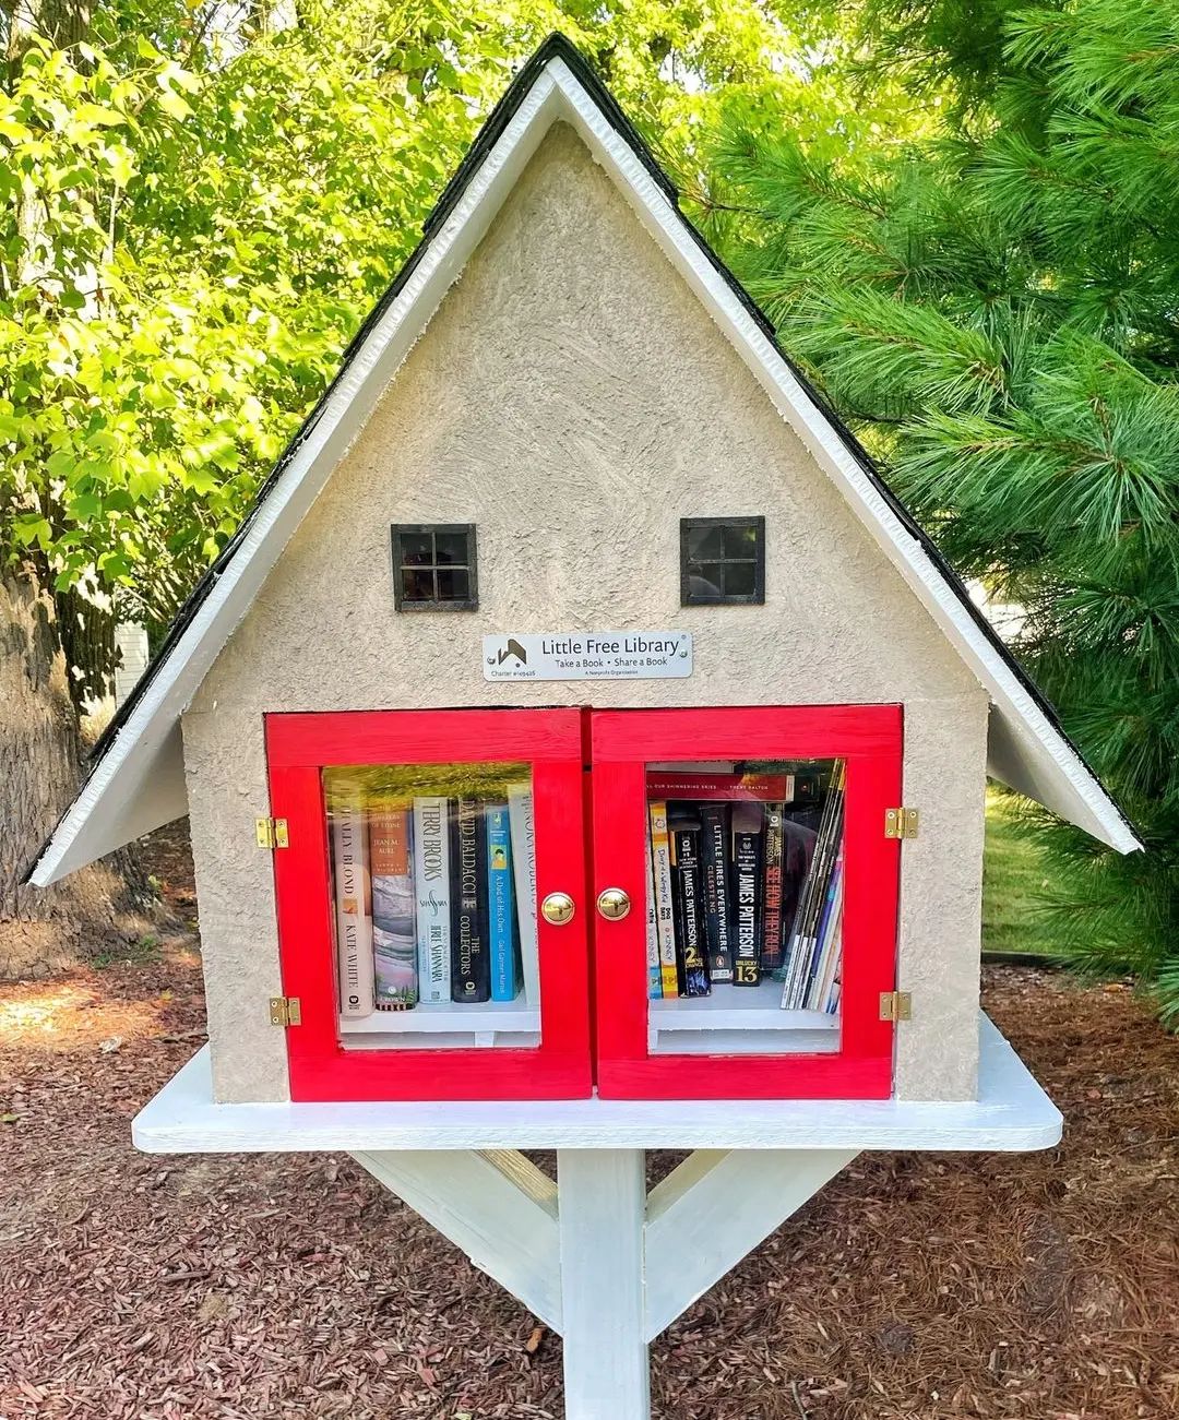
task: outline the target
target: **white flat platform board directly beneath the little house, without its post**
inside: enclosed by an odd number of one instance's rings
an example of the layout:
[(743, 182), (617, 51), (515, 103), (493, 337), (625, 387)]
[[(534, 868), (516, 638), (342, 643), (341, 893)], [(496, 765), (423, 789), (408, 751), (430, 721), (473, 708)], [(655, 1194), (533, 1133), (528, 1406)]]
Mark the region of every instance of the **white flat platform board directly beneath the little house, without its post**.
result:
[(979, 1098), (219, 1105), (206, 1045), (146, 1105), (146, 1153), (368, 1149), (1051, 1149), (1061, 1115), (980, 1018)]

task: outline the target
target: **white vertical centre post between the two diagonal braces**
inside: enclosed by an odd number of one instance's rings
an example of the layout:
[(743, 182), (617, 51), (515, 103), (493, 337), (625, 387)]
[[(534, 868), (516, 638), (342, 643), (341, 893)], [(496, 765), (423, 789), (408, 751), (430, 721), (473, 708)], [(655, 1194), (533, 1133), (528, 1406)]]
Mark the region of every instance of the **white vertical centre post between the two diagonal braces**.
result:
[(642, 1149), (560, 1149), (565, 1420), (649, 1420)]

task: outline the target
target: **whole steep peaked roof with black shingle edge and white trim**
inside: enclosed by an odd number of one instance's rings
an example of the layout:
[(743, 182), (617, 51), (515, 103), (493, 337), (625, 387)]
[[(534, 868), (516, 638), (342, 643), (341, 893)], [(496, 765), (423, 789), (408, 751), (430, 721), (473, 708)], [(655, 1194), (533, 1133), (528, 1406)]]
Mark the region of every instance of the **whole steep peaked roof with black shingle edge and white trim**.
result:
[(43, 848), (30, 880), (51, 883), (188, 811), (182, 711), (558, 119), (575, 128), (781, 417), (987, 687), (989, 772), (1121, 852), (1141, 848), (962, 581), (679, 210), (675, 186), (614, 97), (574, 45), (554, 34), (493, 109), (425, 223), (420, 243), (357, 332), (335, 379), (95, 746), (87, 781)]

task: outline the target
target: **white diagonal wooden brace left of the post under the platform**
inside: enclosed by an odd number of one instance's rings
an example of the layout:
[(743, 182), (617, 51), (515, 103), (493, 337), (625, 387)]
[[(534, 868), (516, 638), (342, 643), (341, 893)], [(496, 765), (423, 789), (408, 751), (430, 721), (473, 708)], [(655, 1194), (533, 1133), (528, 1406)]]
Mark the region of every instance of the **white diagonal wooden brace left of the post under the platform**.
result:
[(557, 1186), (514, 1149), (352, 1153), (534, 1316), (563, 1331)]

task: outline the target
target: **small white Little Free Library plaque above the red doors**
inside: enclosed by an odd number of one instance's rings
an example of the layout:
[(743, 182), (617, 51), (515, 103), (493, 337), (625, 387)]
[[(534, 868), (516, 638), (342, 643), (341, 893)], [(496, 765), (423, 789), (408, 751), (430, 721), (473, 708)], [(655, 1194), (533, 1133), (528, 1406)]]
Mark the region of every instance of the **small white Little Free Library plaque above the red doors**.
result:
[(692, 674), (686, 630), (554, 630), (484, 636), (484, 680), (679, 680)]

